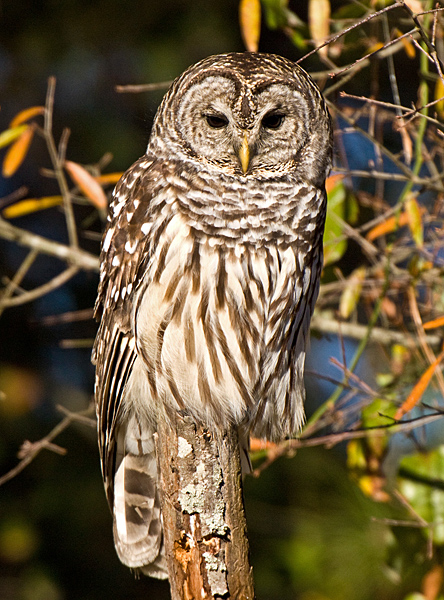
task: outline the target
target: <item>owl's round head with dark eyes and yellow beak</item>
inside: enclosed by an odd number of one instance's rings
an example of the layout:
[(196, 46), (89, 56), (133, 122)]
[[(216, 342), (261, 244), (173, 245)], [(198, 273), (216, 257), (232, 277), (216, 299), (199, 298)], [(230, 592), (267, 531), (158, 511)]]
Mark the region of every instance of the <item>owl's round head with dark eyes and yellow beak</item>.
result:
[(322, 95), (303, 69), (244, 52), (210, 56), (178, 77), (159, 107), (150, 146), (156, 152), (163, 140), (196, 169), (246, 178), (291, 172), (322, 185), (331, 135)]

